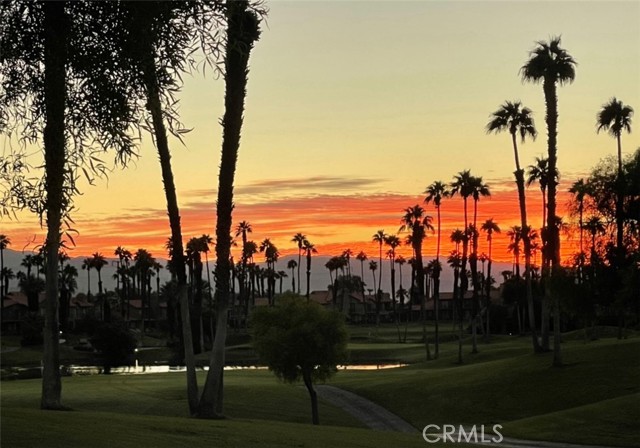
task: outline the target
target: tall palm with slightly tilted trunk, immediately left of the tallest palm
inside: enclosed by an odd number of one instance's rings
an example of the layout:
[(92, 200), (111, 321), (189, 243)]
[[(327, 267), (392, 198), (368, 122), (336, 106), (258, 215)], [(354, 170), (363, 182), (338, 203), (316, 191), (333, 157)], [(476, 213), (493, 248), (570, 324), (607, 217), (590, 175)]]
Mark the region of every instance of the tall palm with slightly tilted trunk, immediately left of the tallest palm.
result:
[[(492, 119), (486, 126), (487, 132), (501, 132), (507, 130), (511, 134), (511, 143), (513, 145), (513, 155), (516, 165), (515, 177), (516, 186), (518, 188), (518, 202), (520, 204), (520, 226), (523, 229), (528, 229), (527, 223), (527, 205), (525, 199), (524, 190), (524, 169), (520, 167), (520, 158), (518, 156), (518, 142), (517, 134), (520, 134), (522, 143), (524, 143), (527, 136), (532, 140), (536, 139), (537, 131), (532, 112), (527, 107), (522, 107), (520, 101), (506, 101), (500, 109), (492, 114)], [(477, 238), (476, 238), (477, 242)], [(533, 344), (534, 352), (540, 352), (540, 343), (538, 342), (538, 335), (536, 334), (535, 326), (535, 314), (533, 312), (533, 290), (531, 285), (531, 241), (529, 240), (528, 232), (523, 232), (522, 243), (524, 245), (525, 253), (525, 283), (526, 283), (526, 296), (527, 305), (529, 308), (529, 326), (531, 327), (531, 340)], [(475, 250), (475, 249), (474, 249)]]

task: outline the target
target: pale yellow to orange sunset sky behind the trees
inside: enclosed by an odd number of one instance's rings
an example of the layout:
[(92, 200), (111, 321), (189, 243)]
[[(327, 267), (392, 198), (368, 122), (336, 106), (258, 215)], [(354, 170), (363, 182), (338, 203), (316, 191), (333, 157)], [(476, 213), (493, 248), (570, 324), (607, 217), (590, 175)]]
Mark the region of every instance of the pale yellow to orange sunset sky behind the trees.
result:
[[(504, 230), (494, 258), (508, 261), (505, 231), (519, 224), (508, 134), (484, 127), (505, 100), (534, 112), (536, 141), (520, 145), (523, 165), (546, 153), (542, 87), (519, 76), (539, 40), (561, 35), (577, 60), (573, 84), (558, 88), (560, 212), (566, 190), (606, 156), (614, 139), (597, 134), (596, 114), (615, 96), (640, 108), (638, 1), (271, 1), (250, 60), (246, 111), (236, 171), (234, 225), (252, 224), (251, 238), (270, 238), (282, 255), (297, 253), (301, 232), (321, 255), (350, 248), (376, 257), (371, 237), (396, 233), (406, 207), (422, 204), (433, 181), (470, 169), (491, 188), (478, 221)], [(171, 140), (185, 239), (215, 234), (224, 82), (211, 71), (184, 77), (184, 145)], [(637, 121), (636, 121), (637, 123)], [(638, 131), (623, 152), (640, 147)], [(10, 144), (1, 137), (0, 151)], [(141, 157), (76, 200), (72, 257), (116, 246), (163, 257), (169, 235), (160, 166), (144, 136)], [(105, 156), (109, 160), (110, 156)], [(434, 217), (432, 205), (423, 204)], [(528, 190), (530, 222), (540, 226), (541, 196)], [(442, 206), (443, 247), (462, 226), (462, 200)], [(3, 217), (0, 233), (13, 250), (29, 250), (45, 231), (26, 212)], [(565, 236), (565, 248), (576, 247)], [(480, 252), (487, 252), (481, 238)], [(410, 256), (410, 249), (403, 248)], [(430, 236), (424, 252), (435, 253)], [(568, 251), (565, 251), (568, 254)], [(284, 268), (282, 266), (281, 268)]]

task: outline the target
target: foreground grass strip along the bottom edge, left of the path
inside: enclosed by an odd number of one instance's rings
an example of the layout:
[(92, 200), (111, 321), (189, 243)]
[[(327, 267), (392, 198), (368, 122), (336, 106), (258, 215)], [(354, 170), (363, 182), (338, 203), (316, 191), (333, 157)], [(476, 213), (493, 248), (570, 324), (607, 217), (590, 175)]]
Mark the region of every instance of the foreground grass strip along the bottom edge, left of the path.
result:
[[(38, 422), (34, 424), (34, 422)], [(3, 412), (2, 441), (12, 448), (365, 448), (424, 447), (419, 434), (252, 420), (196, 420), (112, 412)]]

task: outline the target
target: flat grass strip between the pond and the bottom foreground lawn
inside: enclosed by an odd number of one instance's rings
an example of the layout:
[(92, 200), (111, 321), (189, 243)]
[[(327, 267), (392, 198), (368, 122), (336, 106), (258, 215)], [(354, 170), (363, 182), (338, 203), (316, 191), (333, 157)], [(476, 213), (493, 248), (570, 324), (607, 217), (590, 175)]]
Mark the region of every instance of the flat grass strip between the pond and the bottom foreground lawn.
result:
[[(199, 384), (204, 380), (201, 372)], [(37, 408), (41, 385), (40, 380), (3, 382), (3, 411)], [(181, 373), (65, 377), (62, 387), (64, 404), (82, 412), (188, 415), (185, 376)], [(267, 371), (233, 371), (225, 374), (225, 414), (232, 418), (307, 423), (311, 421), (311, 405), (305, 388), (283, 384)], [(320, 403), (320, 417), (330, 425), (362, 426), (351, 415), (324, 402)]]

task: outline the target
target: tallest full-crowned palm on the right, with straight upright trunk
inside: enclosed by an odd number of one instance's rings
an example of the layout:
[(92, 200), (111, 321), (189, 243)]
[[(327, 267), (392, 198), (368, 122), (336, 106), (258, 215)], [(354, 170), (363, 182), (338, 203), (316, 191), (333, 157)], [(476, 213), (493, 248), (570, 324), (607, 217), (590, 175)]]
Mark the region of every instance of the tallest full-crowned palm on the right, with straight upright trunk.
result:
[[(575, 79), (576, 61), (561, 46), (560, 37), (553, 37), (549, 42), (539, 41), (530, 52), (530, 58), (520, 69), (523, 81), (534, 83), (542, 82), (544, 100), (546, 105), (545, 121), (547, 124), (547, 151), (549, 156), (549, 170), (547, 173), (547, 217), (548, 225), (547, 245), (548, 261), (552, 269), (560, 267), (560, 233), (556, 225), (556, 172), (558, 171), (558, 95), (557, 85), (573, 82)], [(552, 222), (553, 221), (553, 222)], [(549, 282), (546, 286), (546, 296), (551, 295)], [(553, 338), (553, 365), (562, 365), (560, 351), (560, 303), (557, 294), (554, 295), (554, 338)]]

